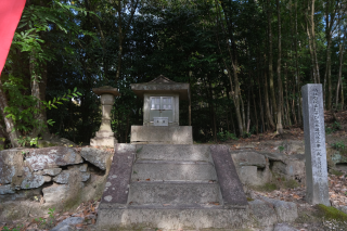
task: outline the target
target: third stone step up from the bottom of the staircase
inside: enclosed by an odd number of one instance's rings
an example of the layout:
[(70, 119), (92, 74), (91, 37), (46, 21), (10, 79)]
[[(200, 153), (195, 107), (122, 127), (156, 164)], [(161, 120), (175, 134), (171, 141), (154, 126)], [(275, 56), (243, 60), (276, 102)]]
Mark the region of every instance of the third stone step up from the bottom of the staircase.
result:
[(215, 167), (207, 162), (138, 161), (132, 167), (132, 181), (216, 181)]

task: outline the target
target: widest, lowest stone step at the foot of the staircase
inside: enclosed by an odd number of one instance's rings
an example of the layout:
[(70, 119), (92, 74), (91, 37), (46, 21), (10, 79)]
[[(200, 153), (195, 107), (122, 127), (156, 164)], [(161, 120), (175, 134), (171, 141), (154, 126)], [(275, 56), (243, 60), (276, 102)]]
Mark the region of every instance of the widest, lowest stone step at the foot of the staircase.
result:
[(99, 209), (102, 229), (241, 229), (248, 224), (248, 209)]

